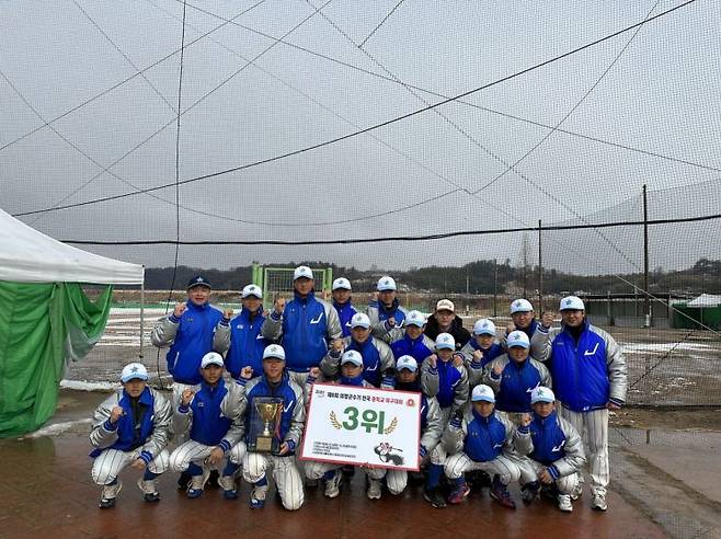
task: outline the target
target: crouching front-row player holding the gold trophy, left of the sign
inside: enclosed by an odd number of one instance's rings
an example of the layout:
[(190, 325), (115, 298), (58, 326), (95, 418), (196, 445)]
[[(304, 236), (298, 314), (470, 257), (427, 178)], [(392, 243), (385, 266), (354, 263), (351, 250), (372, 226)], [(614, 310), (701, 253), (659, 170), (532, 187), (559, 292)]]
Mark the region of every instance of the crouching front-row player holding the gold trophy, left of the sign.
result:
[[(250, 380), (250, 369), (243, 369), (239, 383)], [(282, 440), (277, 455), (271, 452), (248, 451), (243, 457), (243, 479), (253, 485), (250, 506), (260, 509), (265, 506), (267, 495), (267, 472), (273, 471), (273, 479), (281, 495), (283, 506), (288, 511), (300, 508), (304, 502), (302, 479), (296, 466), (296, 447), (302, 435), (306, 421), (304, 393), (285, 369), (285, 351), (277, 344), (268, 345), (263, 352), (263, 375), (245, 381), (245, 423), (255, 410), (254, 400), (273, 397), (282, 400), (283, 411), (277, 436)], [(250, 429), (249, 429), (250, 431)]]

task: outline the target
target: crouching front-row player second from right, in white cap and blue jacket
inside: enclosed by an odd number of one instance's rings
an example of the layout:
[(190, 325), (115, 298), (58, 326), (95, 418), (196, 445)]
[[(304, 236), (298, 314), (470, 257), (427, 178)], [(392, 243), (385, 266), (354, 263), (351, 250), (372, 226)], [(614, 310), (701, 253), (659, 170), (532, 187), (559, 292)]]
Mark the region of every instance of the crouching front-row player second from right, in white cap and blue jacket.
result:
[(513, 451), (515, 428), (494, 411), (495, 397), (488, 386), (476, 386), (471, 393), (471, 412), (465, 418), (456, 415), (443, 435), (450, 457), (446, 459), (446, 477), (455, 482), (448, 502), (459, 504), (470, 488), (465, 472), (482, 470), (493, 477), (491, 497), (504, 507), (515, 508), (507, 486), (518, 481), (520, 471), (508, 455)]

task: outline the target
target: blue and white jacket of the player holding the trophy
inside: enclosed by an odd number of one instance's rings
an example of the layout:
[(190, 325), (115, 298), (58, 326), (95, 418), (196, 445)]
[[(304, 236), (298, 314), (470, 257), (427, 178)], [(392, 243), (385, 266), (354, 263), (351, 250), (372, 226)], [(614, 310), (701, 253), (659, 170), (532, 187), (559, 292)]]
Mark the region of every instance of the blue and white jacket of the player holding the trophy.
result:
[[(283, 401), (283, 411), (281, 412), (281, 422), (276, 432), (282, 441), (291, 441), (293, 447), (289, 455), (294, 454), (295, 448), (300, 443), (300, 435), (305, 423), (305, 403), (304, 394), (300, 387), (290, 380), (287, 371), (283, 372), (283, 379), (276, 387), (272, 387), (265, 375), (253, 378), (245, 386), (245, 398), (248, 401), (248, 417), (255, 413), (254, 399), (259, 397), (275, 397)], [(247, 431), (250, 435), (253, 425), (247, 422)], [(248, 438), (250, 441), (250, 438)]]

